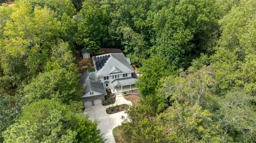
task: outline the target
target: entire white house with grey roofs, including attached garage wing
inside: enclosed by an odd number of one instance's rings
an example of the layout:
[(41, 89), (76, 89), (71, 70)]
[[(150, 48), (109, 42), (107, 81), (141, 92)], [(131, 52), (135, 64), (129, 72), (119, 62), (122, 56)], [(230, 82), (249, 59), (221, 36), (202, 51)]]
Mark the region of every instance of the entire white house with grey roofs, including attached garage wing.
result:
[(95, 72), (84, 72), (80, 80), (84, 106), (101, 103), (107, 95), (106, 89), (112, 93), (137, 89), (137, 74), (123, 53), (93, 56), (92, 61)]

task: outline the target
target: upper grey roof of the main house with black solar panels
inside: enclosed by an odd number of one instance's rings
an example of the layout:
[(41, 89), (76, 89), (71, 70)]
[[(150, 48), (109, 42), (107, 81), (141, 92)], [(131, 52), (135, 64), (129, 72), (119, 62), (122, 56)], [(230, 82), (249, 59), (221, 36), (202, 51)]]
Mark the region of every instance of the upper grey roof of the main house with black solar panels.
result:
[(133, 72), (129, 58), (125, 58), (123, 53), (110, 53), (94, 56), (92, 60), (98, 77), (104, 77), (111, 73)]

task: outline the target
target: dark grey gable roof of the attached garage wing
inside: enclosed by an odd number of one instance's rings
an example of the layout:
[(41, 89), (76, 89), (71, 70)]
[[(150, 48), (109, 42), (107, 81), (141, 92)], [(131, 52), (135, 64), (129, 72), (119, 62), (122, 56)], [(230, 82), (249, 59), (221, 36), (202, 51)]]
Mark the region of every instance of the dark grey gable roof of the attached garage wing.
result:
[(103, 95), (107, 95), (107, 92), (105, 90), (105, 87), (103, 86), (103, 83), (101, 83), (101, 81), (97, 78), (97, 75), (95, 72), (89, 72), (89, 71), (84, 72), (81, 76), (80, 83), (81, 85), (83, 85), (83, 95), (85, 95), (87, 92), (91, 90), (97, 91)]

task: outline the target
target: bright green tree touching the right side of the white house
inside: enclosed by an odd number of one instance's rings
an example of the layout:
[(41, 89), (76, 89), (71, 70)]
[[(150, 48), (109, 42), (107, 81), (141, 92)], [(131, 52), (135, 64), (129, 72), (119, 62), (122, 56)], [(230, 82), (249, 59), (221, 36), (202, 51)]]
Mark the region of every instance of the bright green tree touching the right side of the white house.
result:
[(158, 88), (159, 80), (168, 75), (175, 75), (174, 66), (168, 64), (163, 58), (152, 56), (142, 62), (138, 82), (136, 83), (143, 96), (153, 94)]

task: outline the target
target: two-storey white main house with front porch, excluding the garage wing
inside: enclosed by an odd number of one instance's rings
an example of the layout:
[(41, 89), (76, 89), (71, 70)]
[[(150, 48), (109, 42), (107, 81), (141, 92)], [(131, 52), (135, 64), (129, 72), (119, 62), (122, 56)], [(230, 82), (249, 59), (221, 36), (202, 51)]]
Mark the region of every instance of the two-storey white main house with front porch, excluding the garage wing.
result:
[(137, 74), (123, 53), (93, 56), (92, 61), (98, 79), (112, 93), (137, 89)]

